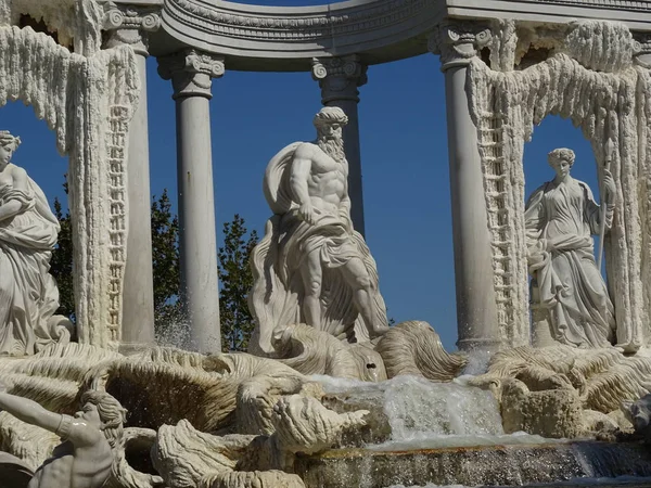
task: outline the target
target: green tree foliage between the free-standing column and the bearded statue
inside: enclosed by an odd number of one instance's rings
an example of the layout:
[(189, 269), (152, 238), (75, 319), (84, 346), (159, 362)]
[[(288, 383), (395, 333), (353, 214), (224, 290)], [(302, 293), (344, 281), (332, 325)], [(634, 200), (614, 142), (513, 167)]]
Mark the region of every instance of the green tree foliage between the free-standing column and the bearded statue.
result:
[(231, 222), (224, 224), (224, 246), (219, 247), (219, 321), (221, 325), (221, 349), (246, 350), (254, 329), (248, 311), (247, 296), (253, 287), (253, 273), (248, 259), (258, 236), (255, 230), (248, 233), (244, 219), (238, 214)]

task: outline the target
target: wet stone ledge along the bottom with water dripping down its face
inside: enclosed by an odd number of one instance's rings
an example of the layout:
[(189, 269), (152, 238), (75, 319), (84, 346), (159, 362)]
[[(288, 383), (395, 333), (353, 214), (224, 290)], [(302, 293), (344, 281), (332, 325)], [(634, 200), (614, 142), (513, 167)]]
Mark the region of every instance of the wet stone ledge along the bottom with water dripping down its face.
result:
[[(591, 441), (387, 452), (346, 449), (299, 455), (294, 468), (307, 488), (425, 486), (429, 483), (549, 486), (574, 478), (651, 476), (651, 450), (636, 444)], [(633, 486), (651, 486), (649, 479), (633, 483)], [(613, 486), (615, 484), (613, 479)]]

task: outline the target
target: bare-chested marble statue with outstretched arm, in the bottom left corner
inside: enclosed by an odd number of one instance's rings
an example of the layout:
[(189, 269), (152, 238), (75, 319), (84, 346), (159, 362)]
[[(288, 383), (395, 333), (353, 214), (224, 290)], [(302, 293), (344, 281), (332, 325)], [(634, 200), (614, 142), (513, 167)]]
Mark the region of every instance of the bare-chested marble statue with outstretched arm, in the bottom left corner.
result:
[(104, 391), (81, 396), (75, 416), (54, 413), (36, 401), (10, 395), (0, 383), (0, 410), (61, 437), (52, 457), (35, 473), (28, 488), (100, 488), (111, 475), (112, 448), (123, 432), (125, 410)]

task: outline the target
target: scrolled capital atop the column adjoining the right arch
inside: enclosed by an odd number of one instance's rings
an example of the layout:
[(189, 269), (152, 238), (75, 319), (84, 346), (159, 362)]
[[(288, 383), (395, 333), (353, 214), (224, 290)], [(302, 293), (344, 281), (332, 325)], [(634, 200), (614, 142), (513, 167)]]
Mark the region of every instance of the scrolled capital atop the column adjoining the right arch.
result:
[(441, 55), (442, 70), (445, 72), (455, 66), (468, 66), (490, 38), (490, 28), (485, 24), (447, 21), (430, 36), (427, 47)]

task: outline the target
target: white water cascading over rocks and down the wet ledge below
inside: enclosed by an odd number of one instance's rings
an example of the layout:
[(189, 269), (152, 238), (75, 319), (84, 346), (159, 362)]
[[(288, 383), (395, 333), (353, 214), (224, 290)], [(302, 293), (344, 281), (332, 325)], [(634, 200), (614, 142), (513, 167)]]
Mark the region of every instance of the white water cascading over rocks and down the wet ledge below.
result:
[(651, 476), (648, 447), (507, 435), (493, 395), (470, 386), (467, 377), (451, 383), (413, 376), (383, 383), (315, 378), (323, 384), (329, 408), (371, 411), (374, 435), (357, 439), (354, 448), (297, 459), (296, 473), (308, 488), (551, 487), (578, 480), (651, 487), (644, 478)]

